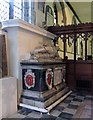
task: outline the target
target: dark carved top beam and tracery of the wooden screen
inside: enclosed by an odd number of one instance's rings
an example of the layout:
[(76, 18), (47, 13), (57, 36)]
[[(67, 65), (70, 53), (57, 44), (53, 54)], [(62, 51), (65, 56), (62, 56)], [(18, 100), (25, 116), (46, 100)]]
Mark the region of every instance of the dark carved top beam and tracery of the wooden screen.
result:
[(78, 38), (82, 38), (82, 40), (85, 42), (85, 60), (87, 60), (87, 41), (88, 39), (93, 39), (93, 23), (50, 26), (48, 27), (48, 31), (57, 35), (57, 37), (54, 39), (54, 45), (56, 44), (59, 37), (62, 38), (64, 43), (64, 58), (66, 56), (66, 41), (69, 42), (69, 39), (71, 39), (74, 42), (74, 60), (76, 60), (76, 42)]

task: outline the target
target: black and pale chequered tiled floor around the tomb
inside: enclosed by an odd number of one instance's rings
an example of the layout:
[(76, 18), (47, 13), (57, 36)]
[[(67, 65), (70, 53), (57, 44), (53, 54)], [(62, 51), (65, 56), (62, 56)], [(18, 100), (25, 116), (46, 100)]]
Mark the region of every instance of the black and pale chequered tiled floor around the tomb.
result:
[(20, 118), (21, 120), (72, 120), (73, 118), (93, 119), (93, 96), (72, 93), (59, 105), (57, 105), (49, 114), (22, 108), (18, 113), (9, 118)]

